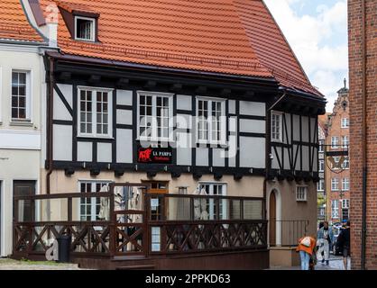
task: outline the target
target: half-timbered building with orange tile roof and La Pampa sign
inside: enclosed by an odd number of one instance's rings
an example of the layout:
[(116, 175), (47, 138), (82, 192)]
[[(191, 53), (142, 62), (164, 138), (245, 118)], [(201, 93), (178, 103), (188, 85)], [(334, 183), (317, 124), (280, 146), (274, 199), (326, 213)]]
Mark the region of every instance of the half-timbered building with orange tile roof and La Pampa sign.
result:
[[(326, 102), (262, 1), (30, 2), (59, 47), (44, 55), (43, 193), (130, 182), (260, 197), (244, 213), (270, 220), (275, 262), (315, 231)], [(84, 199), (79, 218), (98, 209)]]

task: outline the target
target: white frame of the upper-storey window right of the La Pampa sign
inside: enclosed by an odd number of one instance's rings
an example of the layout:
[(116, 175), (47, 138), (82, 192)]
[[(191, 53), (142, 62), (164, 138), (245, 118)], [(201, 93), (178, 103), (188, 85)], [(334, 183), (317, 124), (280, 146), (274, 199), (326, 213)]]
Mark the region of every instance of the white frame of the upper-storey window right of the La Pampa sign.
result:
[[(208, 107), (208, 117), (207, 117), (207, 139), (199, 139), (199, 101), (207, 101)], [(220, 139), (212, 138), (212, 102), (221, 103), (221, 115), (220, 115)], [(198, 144), (214, 144), (214, 145), (225, 145), (226, 144), (226, 112), (225, 112), (226, 100), (223, 98), (216, 97), (204, 97), (196, 96), (196, 139)]]

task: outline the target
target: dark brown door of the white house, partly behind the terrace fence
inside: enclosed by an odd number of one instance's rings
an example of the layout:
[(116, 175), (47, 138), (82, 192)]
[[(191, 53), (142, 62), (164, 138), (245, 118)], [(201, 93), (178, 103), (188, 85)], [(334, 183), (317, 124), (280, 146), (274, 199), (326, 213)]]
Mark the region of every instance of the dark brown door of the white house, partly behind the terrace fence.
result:
[[(14, 181), (14, 196), (32, 195), (35, 195), (35, 181)], [(17, 217), (19, 221), (35, 220), (31, 200), (23, 200), (19, 202)]]

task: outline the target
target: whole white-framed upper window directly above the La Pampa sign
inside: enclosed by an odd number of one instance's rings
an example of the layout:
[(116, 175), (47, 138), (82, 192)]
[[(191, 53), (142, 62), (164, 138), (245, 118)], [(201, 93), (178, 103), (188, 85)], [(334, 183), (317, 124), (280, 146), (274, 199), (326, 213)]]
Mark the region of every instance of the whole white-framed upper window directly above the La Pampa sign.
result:
[(137, 92), (138, 139), (170, 141), (173, 134), (173, 94)]

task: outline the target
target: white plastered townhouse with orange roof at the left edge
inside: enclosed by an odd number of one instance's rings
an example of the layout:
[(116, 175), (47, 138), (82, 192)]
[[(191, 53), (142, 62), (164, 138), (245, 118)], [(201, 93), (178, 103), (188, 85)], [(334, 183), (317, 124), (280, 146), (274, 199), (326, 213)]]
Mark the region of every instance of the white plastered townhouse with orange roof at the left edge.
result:
[(12, 253), (13, 195), (41, 192), (44, 37), (20, 1), (0, 3), (0, 256)]

